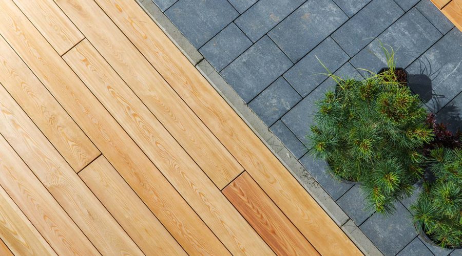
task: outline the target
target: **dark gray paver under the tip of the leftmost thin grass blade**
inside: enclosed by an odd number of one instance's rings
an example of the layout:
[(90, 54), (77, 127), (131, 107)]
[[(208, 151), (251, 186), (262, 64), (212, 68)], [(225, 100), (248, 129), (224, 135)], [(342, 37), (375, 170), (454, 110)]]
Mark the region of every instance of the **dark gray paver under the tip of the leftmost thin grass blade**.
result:
[(320, 75), (327, 73), (320, 61), (334, 72), (343, 63), (348, 61), (348, 55), (328, 37), (321, 42), (313, 51), (303, 57), (297, 64), (284, 74), (284, 78), (300, 93), (301, 96), (308, 95), (327, 77)]

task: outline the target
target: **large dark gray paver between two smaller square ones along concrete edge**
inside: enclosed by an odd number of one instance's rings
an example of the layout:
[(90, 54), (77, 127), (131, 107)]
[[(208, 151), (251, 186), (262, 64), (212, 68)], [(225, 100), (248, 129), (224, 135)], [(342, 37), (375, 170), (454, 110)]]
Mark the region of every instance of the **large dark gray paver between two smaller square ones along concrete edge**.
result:
[(264, 36), (220, 74), (248, 103), (291, 66), (291, 60)]

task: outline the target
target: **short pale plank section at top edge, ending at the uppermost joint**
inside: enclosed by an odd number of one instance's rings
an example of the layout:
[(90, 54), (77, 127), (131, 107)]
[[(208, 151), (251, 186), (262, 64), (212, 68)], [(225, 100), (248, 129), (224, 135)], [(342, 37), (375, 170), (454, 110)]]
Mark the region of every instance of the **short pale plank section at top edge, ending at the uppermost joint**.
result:
[(84, 38), (53, 2), (13, 1), (60, 55)]

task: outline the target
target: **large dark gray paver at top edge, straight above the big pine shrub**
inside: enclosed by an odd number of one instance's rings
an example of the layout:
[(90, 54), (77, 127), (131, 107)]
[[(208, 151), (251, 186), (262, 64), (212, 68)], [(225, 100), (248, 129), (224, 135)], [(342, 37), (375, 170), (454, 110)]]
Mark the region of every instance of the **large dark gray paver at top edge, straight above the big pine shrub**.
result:
[(335, 31), (332, 38), (353, 56), (403, 13), (393, 0), (373, 0)]

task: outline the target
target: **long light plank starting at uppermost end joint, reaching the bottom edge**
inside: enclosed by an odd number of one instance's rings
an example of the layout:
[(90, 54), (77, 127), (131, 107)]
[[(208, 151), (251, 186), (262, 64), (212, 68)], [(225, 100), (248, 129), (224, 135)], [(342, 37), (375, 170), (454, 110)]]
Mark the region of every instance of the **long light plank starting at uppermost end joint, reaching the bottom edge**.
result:
[(272, 253), (88, 40), (64, 59), (232, 253)]

